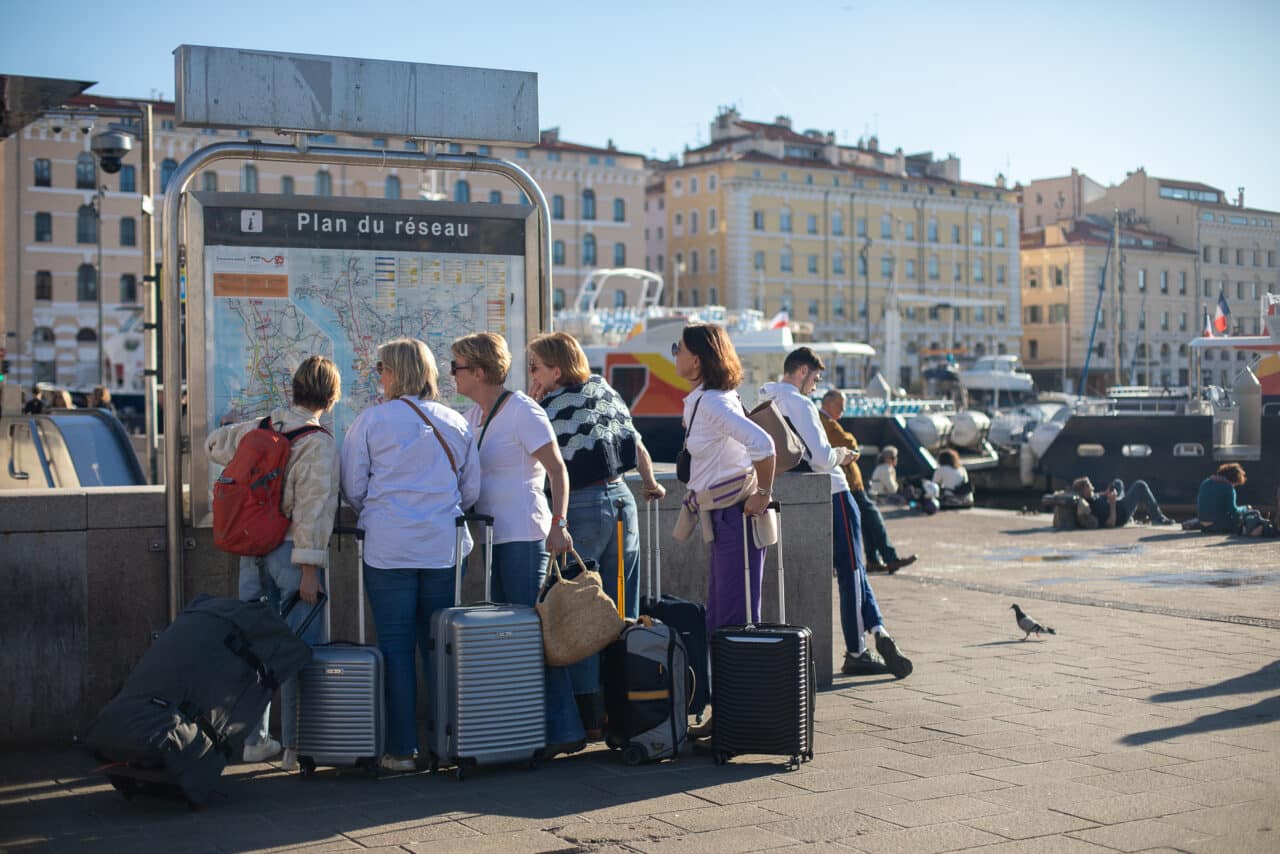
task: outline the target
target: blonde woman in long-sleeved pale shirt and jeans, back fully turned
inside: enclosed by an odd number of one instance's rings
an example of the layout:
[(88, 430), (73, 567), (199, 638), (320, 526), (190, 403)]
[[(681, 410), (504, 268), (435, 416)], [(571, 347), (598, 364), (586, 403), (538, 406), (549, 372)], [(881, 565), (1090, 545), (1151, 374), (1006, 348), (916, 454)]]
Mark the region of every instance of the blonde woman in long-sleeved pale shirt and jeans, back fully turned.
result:
[[(466, 420), (438, 403), (435, 357), (421, 341), (378, 348), (385, 403), (347, 430), (342, 495), (365, 531), (365, 590), (387, 685), (383, 767), (412, 771), (417, 754), (415, 641), (426, 663), (431, 615), (453, 600), (454, 520), (480, 495), (480, 461)], [(463, 529), (462, 552), (471, 551)]]

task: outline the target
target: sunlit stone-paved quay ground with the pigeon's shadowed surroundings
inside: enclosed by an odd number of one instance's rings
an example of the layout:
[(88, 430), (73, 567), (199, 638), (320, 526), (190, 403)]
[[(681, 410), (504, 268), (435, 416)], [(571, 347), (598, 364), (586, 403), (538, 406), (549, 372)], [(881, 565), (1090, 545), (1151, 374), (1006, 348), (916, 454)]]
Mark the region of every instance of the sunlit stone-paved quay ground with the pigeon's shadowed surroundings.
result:
[[(466, 781), (230, 768), (197, 812), (72, 748), (0, 754), (0, 849), (1280, 851), (1280, 540), (888, 516), (872, 583), (915, 662), (837, 676), (817, 755), (627, 768), (603, 746)], [(1021, 640), (1018, 602), (1055, 635)], [(840, 650), (837, 650), (840, 652)]]

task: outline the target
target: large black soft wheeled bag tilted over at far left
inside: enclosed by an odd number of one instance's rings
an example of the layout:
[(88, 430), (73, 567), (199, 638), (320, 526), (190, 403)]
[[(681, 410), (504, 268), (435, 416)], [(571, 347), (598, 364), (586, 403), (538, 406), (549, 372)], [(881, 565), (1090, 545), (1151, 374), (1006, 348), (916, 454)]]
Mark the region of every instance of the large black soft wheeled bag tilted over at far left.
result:
[[(321, 594), (298, 634), (324, 602)], [(310, 659), (311, 648), (266, 600), (196, 597), (93, 718), (84, 746), (125, 798), (142, 793), (198, 807), (279, 684)]]

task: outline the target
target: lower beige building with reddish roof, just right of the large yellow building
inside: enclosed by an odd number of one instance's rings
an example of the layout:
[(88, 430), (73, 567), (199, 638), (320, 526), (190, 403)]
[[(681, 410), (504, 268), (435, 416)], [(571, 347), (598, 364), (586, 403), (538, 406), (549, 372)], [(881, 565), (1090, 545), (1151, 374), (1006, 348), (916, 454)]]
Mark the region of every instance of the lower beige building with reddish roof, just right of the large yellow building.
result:
[(1124, 228), (1116, 270), (1114, 259), (1106, 262), (1112, 230), (1106, 218), (1082, 216), (1021, 236), (1023, 365), (1038, 388), (1078, 392), (1087, 357), (1093, 393), (1187, 384), (1187, 344), (1203, 328), (1196, 254), (1162, 234)]

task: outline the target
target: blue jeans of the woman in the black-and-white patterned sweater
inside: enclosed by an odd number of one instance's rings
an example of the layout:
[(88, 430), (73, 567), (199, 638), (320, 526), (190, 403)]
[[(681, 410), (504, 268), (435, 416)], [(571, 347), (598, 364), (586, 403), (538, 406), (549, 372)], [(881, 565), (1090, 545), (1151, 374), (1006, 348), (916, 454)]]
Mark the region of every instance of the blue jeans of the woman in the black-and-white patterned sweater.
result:
[[(622, 511), (613, 506), (622, 501)], [(631, 490), (621, 480), (596, 487), (580, 487), (568, 495), (568, 533), (582, 560), (595, 561), (604, 592), (618, 600), (618, 519), (622, 520), (622, 567), (626, 615), (640, 616), (640, 517)], [(600, 690), (600, 661), (591, 656), (570, 665), (575, 694)]]

